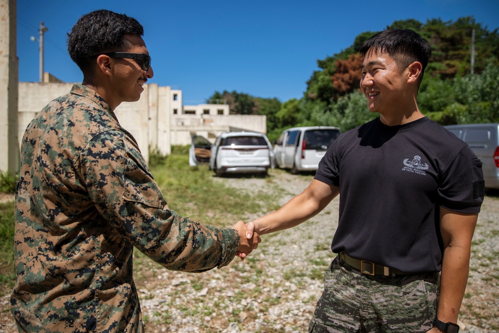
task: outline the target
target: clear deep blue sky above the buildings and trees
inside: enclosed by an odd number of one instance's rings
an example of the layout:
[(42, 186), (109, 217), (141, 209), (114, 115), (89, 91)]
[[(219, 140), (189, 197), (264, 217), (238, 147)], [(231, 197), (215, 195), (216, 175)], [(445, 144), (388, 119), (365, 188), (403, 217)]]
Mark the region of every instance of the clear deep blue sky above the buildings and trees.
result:
[(281, 102), (301, 98), (317, 59), (395, 20), (473, 16), (489, 31), (499, 27), (499, 0), (17, 0), (19, 80), (38, 81), (38, 42), (30, 36), (38, 37), (43, 21), (44, 71), (81, 82), (66, 33), (95, 9), (125, 13), (144, 25), (154, 69), (149, 82), (182, 89), (184, 104), (223, 90)]

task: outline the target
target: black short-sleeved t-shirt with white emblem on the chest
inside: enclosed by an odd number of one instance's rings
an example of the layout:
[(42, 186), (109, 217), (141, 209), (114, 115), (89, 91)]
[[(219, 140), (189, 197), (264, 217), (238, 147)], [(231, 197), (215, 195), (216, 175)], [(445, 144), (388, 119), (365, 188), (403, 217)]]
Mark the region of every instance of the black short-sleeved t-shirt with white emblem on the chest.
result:
[(407, 273), (439, 272), (439, 206), (478, 213), (480, 160), (462, 140), (424, 117), (400, 126), (379, 118), (340, 135), (315, 179), (340, 188), (331, 249)]

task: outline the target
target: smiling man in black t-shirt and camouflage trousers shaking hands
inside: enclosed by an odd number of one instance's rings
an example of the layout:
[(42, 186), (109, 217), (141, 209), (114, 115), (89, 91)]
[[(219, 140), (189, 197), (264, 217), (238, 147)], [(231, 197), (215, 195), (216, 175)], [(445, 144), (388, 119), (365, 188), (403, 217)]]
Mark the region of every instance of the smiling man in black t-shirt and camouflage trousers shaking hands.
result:
[(361, 54), (360, 87), (379, 118), (336, 139), (303, 193), (250, 222), (249, 235), (296, 226), (339, 194), (339, 255), (309, 332), (458, 332), (482, 163), (418, 108), (426, 40), (385, 30)]

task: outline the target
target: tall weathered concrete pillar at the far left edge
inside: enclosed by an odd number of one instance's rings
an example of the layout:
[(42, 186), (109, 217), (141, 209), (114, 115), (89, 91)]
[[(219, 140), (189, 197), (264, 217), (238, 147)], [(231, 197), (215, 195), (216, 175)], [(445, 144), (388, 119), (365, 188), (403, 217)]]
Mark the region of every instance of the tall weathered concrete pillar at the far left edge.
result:
[(19, 170), (16, 1), (0, 0), (0, 171)]

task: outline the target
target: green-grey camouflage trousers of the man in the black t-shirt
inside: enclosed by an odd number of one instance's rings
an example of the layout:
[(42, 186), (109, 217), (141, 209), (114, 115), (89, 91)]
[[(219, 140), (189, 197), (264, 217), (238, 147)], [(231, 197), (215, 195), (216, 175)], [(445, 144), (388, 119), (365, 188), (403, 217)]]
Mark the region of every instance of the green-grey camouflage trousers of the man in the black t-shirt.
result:
[(427, 332), (439, 289), (440, 273), (369, 276), (338, 256), (324, 275), (308, 332)]

